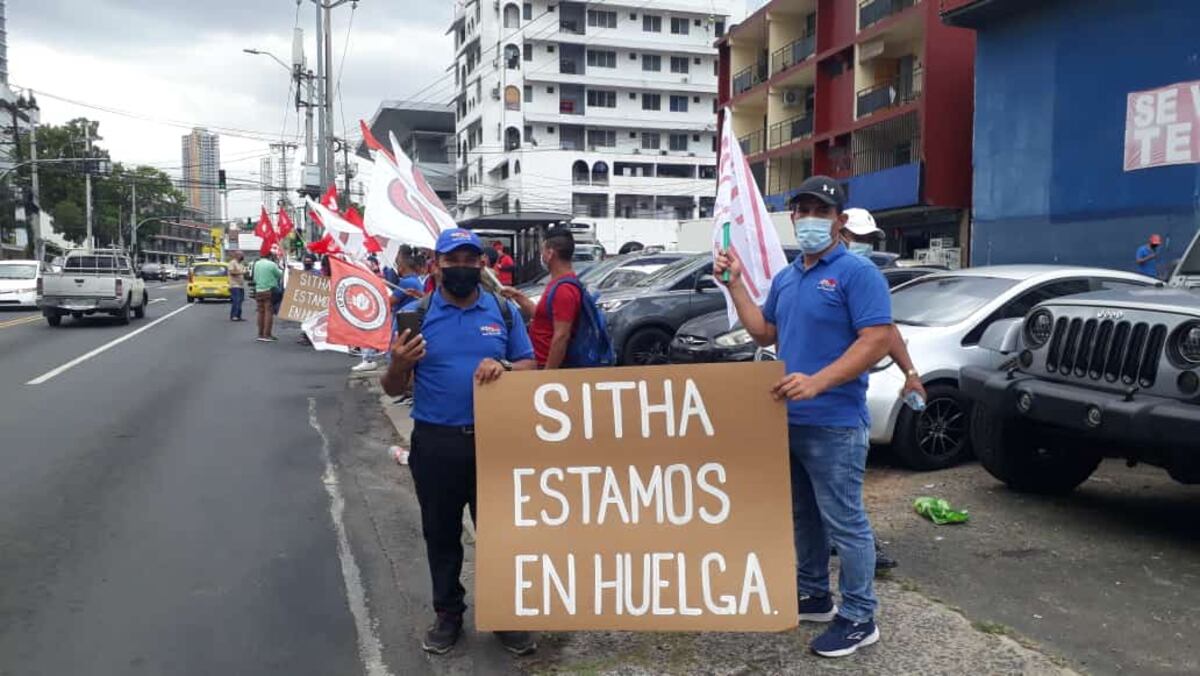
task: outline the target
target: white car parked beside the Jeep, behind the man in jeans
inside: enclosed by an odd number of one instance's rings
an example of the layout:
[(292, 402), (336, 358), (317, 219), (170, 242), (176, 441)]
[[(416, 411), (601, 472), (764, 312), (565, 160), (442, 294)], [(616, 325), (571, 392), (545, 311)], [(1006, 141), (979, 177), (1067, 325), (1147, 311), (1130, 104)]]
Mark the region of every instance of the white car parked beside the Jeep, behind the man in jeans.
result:
[[(1003, 361), (1001, 354), (978, 347), (992, 322), (1024, 317), (1050, 298), (1154, 283), (1152, 277), (1100, 268), (992, 265), (937, 273), (894, 288), (892, 316), (929, 396), (924, 411), (912, 411), (900, 399), (900, 367), (890, 358), (876, 364), (866, 391), (871, 443), (890, 444), (913, 469), (961, 462), (971, 455), (971, 417), (959, 391), (959, 370), (998, 367)], [(757, 357), (773, 358), (772, 348)]]

